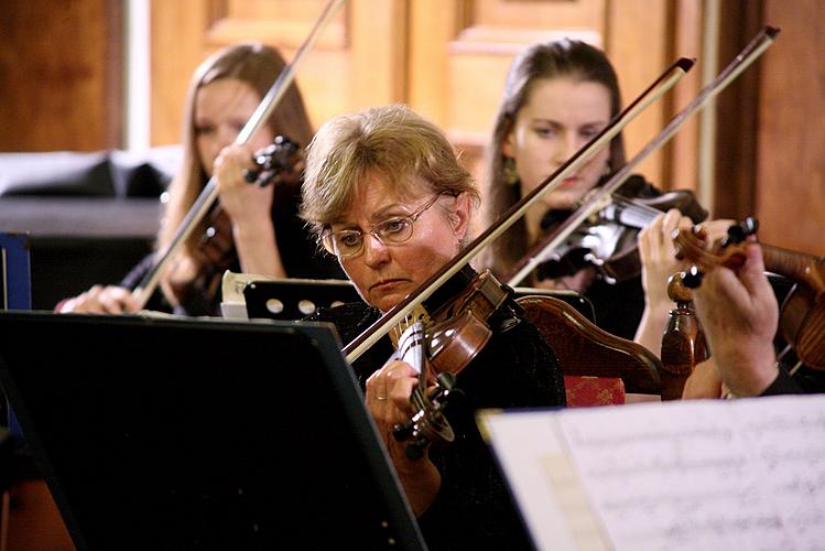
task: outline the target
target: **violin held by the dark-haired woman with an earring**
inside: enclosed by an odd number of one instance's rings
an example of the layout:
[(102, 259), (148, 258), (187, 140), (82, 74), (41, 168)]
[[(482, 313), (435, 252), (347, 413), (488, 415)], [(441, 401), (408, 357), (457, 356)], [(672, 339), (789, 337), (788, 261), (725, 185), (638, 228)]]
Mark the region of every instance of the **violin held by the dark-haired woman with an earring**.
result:
[[(544, 250), (544, 260), (536, 268), (539, 281), (573, 276), (587, 267), (595, 267), (610, 284), (638, 277), (642, 268), (637, 241), (639, 230), (671, 208), (677, 208), (694, 224), (707, 218), (707, 210), (690, 190), (643, 197), (641, 193), (645, 187), (650, 186), (641, 176), (631, 176), (622, 185), (622, 193), (614, 193), (610, 204), (576, 228), (565, 242)], [(542, 220), (542, 229), (552, 231), (561, 218), (568, 215), (569, 212), (549, 212)]]

